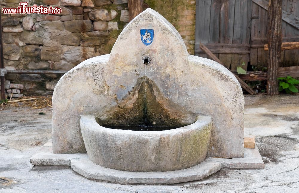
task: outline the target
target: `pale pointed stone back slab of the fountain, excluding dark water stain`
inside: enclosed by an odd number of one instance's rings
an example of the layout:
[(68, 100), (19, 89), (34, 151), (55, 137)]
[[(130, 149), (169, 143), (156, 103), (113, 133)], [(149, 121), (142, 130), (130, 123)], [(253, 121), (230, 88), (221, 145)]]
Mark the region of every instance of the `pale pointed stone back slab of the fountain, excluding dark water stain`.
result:
[[(153, 29), (148, 46), (140, 29)], [(142, 56), (151, 61), (144, 65)], [(196, 115), (212, 118), (208, 156), (243, 157), (242, 89), (222, 65), (187, 53), (176, 29), (160, 14), (147, 9), (120, 33), (110, 55), (97, 56), (68, 71), (53, 93), (53, 152), (86, 153), (80, 116), (106, 118), (137, 98), (138, 79), (155, 83), (154, 93), (172, 118), (185, 124)], [(138, 92), (137, 92), (138, 93)]]

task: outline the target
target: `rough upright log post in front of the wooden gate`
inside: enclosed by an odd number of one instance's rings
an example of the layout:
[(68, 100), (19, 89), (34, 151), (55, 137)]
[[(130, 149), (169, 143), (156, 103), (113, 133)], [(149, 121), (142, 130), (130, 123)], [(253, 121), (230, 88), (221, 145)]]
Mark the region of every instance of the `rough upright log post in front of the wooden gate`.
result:
[(278, 68), (280, 64), (280, 52), (282, 43), (281, 19), (282, 0), (269, 0), (268, 9), (268, 74), (267, 94), (277, 95), (278, 92)]

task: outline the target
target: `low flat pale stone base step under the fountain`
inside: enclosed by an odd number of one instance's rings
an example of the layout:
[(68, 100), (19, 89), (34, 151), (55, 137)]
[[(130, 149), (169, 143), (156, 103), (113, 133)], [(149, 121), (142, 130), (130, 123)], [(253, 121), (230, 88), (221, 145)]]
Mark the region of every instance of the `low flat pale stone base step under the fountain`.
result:
[(52, 140), (49, 140), (30, 159), (33, 165), (65, 165), (90, 180), (118, 184), (175, 184), (201, 180), (219, 171), (228, 169), (262, 169), (264, 163), (257, 147), (244, 149), (242, 158), (206, 158), (202, 163), (175, 171), (134, 172), (107, 169), (92, 163), (87, 154), (53, 154)]

